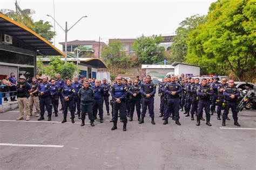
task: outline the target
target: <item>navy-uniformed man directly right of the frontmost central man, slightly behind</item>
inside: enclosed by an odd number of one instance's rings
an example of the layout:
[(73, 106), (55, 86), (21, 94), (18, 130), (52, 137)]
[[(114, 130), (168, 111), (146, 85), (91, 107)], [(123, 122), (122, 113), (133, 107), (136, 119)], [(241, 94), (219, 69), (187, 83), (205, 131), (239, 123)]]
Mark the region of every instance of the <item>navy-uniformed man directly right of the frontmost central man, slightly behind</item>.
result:
[(133, 113), (134, 113), (134, 108), (136, 107), (136, 111), (137, 111), (137, 117), (138, 117), (138, 121), (140, 121), (140, 101), (142, 100), (142, 95), (140, 94), (140, 86), (138, 86), (138, 80), (134, 80), (133, 82), (134, 85), (132, 85), (128, 91), (128, 93), (130, 94), (130, 119), (129, 121), (133, 121)]

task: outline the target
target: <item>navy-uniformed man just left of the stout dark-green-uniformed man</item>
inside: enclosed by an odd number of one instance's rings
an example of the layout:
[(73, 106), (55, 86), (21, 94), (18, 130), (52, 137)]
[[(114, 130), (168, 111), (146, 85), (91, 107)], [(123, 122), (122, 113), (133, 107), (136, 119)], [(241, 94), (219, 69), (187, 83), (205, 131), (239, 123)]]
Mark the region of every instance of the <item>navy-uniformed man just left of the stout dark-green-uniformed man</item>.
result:
[(71, 113), (71, 122), (75, 123), (75, 101), (73, 95), (75, 94), (75, 89), (71, 86), (71, 80), (66, 80), (66, 86), (62, 90), (62, 96), (64, 98), (64, 110), (63, 110), (63, 121), (66, 122), (66, 116), (68, 115), (68, 108)]

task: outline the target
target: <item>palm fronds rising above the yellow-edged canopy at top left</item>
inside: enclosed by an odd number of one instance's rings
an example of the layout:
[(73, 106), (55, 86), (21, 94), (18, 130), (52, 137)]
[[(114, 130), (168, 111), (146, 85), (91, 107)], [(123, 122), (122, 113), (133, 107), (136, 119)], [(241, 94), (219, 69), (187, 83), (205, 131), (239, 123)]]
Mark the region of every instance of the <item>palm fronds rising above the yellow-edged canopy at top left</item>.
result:
[(22, 25), (33, 28), (33, 19), (31, 18), (31, 15), (35, 13), (35, 10), (22, 10), (18, 5), (17, 0), (15, 1), (15, 11), (10, 9), (2, 9), (0, 10), (0, 13), (3, 13), (3, 15), (15, 20)]

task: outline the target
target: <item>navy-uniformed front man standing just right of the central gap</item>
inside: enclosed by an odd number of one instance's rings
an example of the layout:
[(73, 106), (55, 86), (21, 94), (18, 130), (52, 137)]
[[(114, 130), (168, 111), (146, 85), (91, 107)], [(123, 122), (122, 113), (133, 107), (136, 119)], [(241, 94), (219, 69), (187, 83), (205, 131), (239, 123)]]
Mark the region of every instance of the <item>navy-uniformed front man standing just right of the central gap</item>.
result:
[[(169, 77), (168, 77), (169, 78)], [(179, 123), (179, 94), (182, 92), (181, 86), (179, 83), (175, 82), (175, 76), (171, 76), (171, 82), (165, 85), (165, 93), (167, 95), (167, 107), (164, 114), (164, 125), (168, 123), (168, 118), (170, 117), (171, 110), (174, 112), (175, 123)]]

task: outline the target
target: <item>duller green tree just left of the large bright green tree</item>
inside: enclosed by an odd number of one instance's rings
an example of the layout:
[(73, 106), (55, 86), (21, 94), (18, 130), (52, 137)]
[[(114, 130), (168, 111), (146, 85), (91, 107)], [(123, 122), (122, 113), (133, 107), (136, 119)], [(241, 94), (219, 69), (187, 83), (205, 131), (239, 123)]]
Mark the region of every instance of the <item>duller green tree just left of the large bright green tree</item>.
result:
[(174, 37), (174, 42), (171, 46), (172, 60), (177, 62), (185, 61), (185, 56), (187, 55), (187, 44), (188, 34), (196, 29), (199, 24), (205, 22), (206, 16), (194, 15), (189, 18), (186, 18), (181, 22), (176, 29), (177, 36)]

